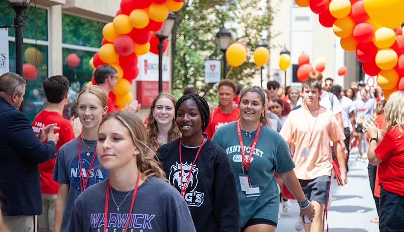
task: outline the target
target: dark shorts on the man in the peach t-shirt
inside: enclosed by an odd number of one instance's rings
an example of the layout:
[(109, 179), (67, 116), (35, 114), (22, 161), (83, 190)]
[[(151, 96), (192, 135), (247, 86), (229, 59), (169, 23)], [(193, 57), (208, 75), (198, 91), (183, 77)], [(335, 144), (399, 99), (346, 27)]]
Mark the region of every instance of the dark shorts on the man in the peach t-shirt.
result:
[(330, 192), (330, 176), (320, 176), (312, 180), (299, 180), (301, 189), (309, 200), (326, 204)]

